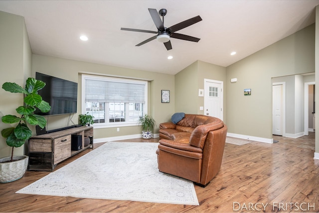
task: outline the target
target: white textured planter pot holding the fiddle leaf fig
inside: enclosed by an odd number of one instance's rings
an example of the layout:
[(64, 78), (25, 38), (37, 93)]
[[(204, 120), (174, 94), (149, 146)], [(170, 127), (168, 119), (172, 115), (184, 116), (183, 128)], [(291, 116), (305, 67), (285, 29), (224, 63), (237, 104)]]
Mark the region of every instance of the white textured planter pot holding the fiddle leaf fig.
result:
[(10, 159), (11, 157), (0, 158), (0, 183), (8, 183), (22, 178), (28, 167), (29, 157), (26, 155), (13, 156), (13, 160), (17, 161), (5, 162)]

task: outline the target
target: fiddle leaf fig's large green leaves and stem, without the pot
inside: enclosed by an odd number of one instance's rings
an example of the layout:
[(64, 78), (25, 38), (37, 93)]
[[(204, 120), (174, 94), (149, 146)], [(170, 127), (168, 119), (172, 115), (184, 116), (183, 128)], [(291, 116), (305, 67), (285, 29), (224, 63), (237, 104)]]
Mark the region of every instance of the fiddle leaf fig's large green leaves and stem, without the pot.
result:
[(41, 128), (44, 128), (46, 125), (46, 120), (43, 116), (34, 114), (37, 108), (42, 112), (48, 112), (51, 109), (49, 103), (43, 101), (42, 97), (38, 95), (38, 91), (44, 87), (44, 82), (34, 78), (26, 80), (24, 89), (16, 83), (5, 82), (2, 85), (2, 89), (7, 92), (25, 94), (23, 106), (15, 109), (19, 117), (8, 114), (1, 118), (3, 123), (18, 123), (15, 127), (2, 129), (1, 131), (2, 137), (6, 138), (6, 144), (12, 147), (11, 161), (13, 160), (13, 148), (22, 146), (25, 140), (29, 139), (32, 135), (32, 131), (27, 124), (39, 125)]

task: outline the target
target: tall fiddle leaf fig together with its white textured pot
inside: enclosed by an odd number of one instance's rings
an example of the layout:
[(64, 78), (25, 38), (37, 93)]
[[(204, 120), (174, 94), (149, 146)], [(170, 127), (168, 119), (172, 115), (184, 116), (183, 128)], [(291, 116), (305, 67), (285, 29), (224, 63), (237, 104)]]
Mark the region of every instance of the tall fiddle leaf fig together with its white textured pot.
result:
[(28, 140), (32, 131), (28, 125), (39, 125), (44, 128), (46, 119), (34, 114), (38, 108), (42, 112), (48, 112), (51, 106), (42, 100), (37, 91), (44, 88), (45, 83), (34, 78), (26, 80), (25, 88), (23, 89), (16, 83), (5, 82), (2, 89), (10, 93), (24, 94), (23, 106), (18, 106), (15, 110), (19, 114), (7, 114), (1, 117), (3, 123), (17, 123), (15, 127), (2, 129), (1, 135), (6, 138), (5, 142), (8, 146), (12, 147), (11, 157), (0, 158), (0, 183), (7, 183), (18, 180), (24, 175), (27, 165), (28, 156), (13, 156), (13, 148), (20, 147)]

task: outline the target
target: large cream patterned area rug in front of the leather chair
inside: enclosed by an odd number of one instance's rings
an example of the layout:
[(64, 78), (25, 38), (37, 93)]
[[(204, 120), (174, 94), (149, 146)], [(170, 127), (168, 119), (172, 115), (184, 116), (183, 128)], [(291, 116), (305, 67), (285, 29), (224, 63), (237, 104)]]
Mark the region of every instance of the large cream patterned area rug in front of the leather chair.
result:
[(152, 142), (107, 142), (16, 193), (199, 205), (191, 181), (161, 173)]

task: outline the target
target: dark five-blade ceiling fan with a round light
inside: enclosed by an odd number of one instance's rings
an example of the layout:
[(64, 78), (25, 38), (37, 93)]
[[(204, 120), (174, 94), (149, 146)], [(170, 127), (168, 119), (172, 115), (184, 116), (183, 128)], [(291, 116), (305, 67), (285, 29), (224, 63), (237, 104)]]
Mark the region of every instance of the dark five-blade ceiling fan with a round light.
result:
[[(173, 26), (170, 26), (168, 28), (164, 27), (164, 16), (167, 13), (166, 9), (160, 9), (159, 13), (156, 9), (151, 9), (149, 8), (150, 14), (152, 16), (152, 19), (158, 28), (158, 31), (152, 31), (152, 30), (143, 30), (143, 29), (131, 29), (131, 28), (121, 28), (121, 30), (128, 30), (128, 31), (135, 31), (135, 32), (147, 32), (147, 33), (155, 33), (157, 35), (135, 45), (135, 46), (141, 46), (143, 44), (146, 44), (154, 39), (157, 39), (161, 43), (164, 43), (165, 47), (167, 50), (172, 49), (171, 43), (170, 43), (170, 38), (177, 38), (177, 39), (182, 39), (186, 41), (193, 41), (193, 42), (198, 42), (200, 38), (195, 38), (189, 35), (184, 35), (180, 33), (176, 33), (176, 31), (183, 29), (185, 27), (188, 27), (194, 23), (197, 23), (198, 21), (201, 21), (201, 17), (199, 15), (187, 19), (185, 21), (182, 21), (178, 24), (175, 24)], [(160, 20), (160, 15), (162, 16), (162, 20)]]

